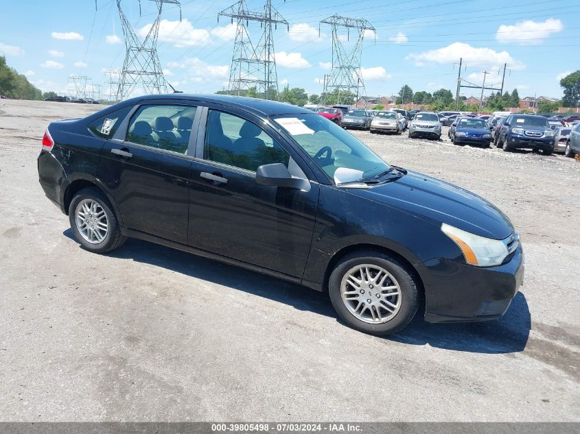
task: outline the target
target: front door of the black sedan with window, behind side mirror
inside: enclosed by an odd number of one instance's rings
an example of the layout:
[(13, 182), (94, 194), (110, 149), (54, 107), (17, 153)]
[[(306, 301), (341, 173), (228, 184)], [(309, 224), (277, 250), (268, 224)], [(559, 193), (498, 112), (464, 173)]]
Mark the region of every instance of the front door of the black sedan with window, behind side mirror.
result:
[[(189, 189), (189, 244), (301, 277), (314, 232), (318, 183), (306, 190), (257, 184), (259, 165), (281, 162), (312, 178), (268, 123), (212, 106), (200, 121)], [(308, 190), (308, 191), (307, 191)]]

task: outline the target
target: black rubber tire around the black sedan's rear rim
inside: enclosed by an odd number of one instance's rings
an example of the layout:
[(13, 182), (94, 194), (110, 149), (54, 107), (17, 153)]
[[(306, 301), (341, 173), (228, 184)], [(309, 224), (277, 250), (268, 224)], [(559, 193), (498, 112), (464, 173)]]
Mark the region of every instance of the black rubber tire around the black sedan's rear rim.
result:
[[(80, 234), (76, 224), (76, 208), (78, 204), (80, 204), (80, 202), (85, 199), (91, 199), (97, 202), (97, 204), (99, 204), (105, 212), (108, 230), (106, 236), (100, 243), (90, 243), (84, 239), (82, 234)], [(117, 216), (113, 211), (111, 203), (101, 191), (92, 187), (78, 191), (78, 193), (76, 193), (76, 195), (71, 200), (71, 204), (69, 205), (69, 222), (71, 224), (71, 230), (73, 231), (75, 239), (80, 243), (80, 245), (82, 245), (82, 248), (89, 250), (89, 252), (111, 252), (111, 250), (115, 250), (121, 247), (121, 245), (127, 241), (127, 237), (121, 234), (119, 221), (117, 220)]]

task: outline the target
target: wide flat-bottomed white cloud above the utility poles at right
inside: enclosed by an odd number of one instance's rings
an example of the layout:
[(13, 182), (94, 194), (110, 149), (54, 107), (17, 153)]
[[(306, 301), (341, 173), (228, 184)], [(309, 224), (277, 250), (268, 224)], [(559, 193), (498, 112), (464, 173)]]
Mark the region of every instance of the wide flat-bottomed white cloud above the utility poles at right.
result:
[(515, 60), (507, 51), (494, 51), (486, 47), (472, 47), (465, 43), (452, 43), (447, 47), (424, 51), (423, 53), (411, 53), (407, 59), (415, 60), (417, 67), (424, 67), (427, 63), (450, 64), (459, 62), (463, 58), (463, 64), (469, 67), (503, 67), (504, 63), (511, 69), (524, 69), (525, 64)]

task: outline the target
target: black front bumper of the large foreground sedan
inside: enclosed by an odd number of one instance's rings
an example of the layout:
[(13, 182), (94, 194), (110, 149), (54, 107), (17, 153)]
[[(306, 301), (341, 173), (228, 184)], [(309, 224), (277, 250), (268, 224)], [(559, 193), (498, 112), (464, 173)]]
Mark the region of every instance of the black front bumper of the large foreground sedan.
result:
[(524, 280), (520, 245), (511, 260), (474, 267), (436, 258), (421, 264), (427, 322), (474, 322), (502, 316)]

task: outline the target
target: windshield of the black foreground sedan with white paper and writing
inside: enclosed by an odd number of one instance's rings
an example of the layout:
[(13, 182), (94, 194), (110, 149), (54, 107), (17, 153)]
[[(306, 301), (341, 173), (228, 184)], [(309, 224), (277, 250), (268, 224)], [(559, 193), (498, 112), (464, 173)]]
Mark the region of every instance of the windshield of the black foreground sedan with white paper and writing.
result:
[(391, 167), (358, 138), (325, 117), (305, 113), (273, 119), (337, 183), (371, 178)]

